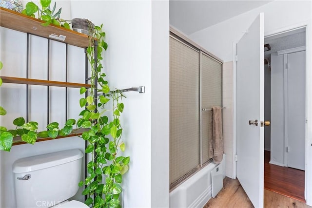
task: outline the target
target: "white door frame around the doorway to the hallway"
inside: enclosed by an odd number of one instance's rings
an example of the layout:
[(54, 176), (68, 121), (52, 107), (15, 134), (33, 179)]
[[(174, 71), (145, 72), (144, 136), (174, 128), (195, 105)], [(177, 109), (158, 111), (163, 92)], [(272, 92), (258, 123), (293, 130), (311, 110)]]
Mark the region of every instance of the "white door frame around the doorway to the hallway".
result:
[[(306, 28), (306, 142), (305, 142), (305, 199), (312, 206), (312, 20), (279, 28), (273, 31), (265, 31), (264, 38), (277, 35), (286, 31)], [(233, 43), (233, 176), (236, 178), (236, 43)]]

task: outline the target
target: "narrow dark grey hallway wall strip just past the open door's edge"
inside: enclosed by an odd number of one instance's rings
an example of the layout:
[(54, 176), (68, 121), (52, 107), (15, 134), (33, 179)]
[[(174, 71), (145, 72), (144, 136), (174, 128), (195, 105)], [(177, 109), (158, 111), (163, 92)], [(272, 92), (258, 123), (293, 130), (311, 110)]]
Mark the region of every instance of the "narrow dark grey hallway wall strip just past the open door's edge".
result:
[[(271, 71), (264, 65), (264, 120), (271, 121)], [(271, 150), (271, 125), (264, 126), (264, 150)]]

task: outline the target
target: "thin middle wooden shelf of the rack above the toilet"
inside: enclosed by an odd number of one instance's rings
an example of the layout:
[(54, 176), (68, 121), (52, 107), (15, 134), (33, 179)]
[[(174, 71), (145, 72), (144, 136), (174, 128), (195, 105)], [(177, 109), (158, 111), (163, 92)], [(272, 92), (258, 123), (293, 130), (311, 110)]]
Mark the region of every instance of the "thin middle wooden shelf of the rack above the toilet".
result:
[(3, 83), (14, 83), (14, 84), (30, 84), (30, 85), (43, 85), (43, 86), (54, 86), (54, 87), (71, 87), (71, 88), (90, 88), (90, 84), (73, 83), (73, 82), (59, 82), (41, 79), (28, 79), (11, 76), (0, 76)]

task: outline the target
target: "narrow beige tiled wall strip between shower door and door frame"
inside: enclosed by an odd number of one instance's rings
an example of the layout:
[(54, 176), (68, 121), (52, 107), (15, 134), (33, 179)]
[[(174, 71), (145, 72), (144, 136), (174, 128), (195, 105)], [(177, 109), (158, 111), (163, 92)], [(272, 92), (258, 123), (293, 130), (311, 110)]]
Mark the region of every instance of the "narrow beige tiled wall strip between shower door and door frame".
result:
[(234, 177), (233, 134), (233, 61), (223, 64), (223, 143), (226, 154), (226, 175)]

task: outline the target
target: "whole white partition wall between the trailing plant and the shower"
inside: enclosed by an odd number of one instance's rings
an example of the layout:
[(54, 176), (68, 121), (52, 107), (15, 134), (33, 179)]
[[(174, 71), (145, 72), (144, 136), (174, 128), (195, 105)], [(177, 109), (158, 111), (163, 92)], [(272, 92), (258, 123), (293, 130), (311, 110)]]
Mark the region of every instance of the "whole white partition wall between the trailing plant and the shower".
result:
[(168, 1), (82, 2), (72, 1), (72, 17), (104, 23), (104, 71), (110, 86), (146, 87), (145, 94), (129, 92), (123, 100), (124, 154), (131, 158), (122, 184), (124, 206), (168, 207)]

